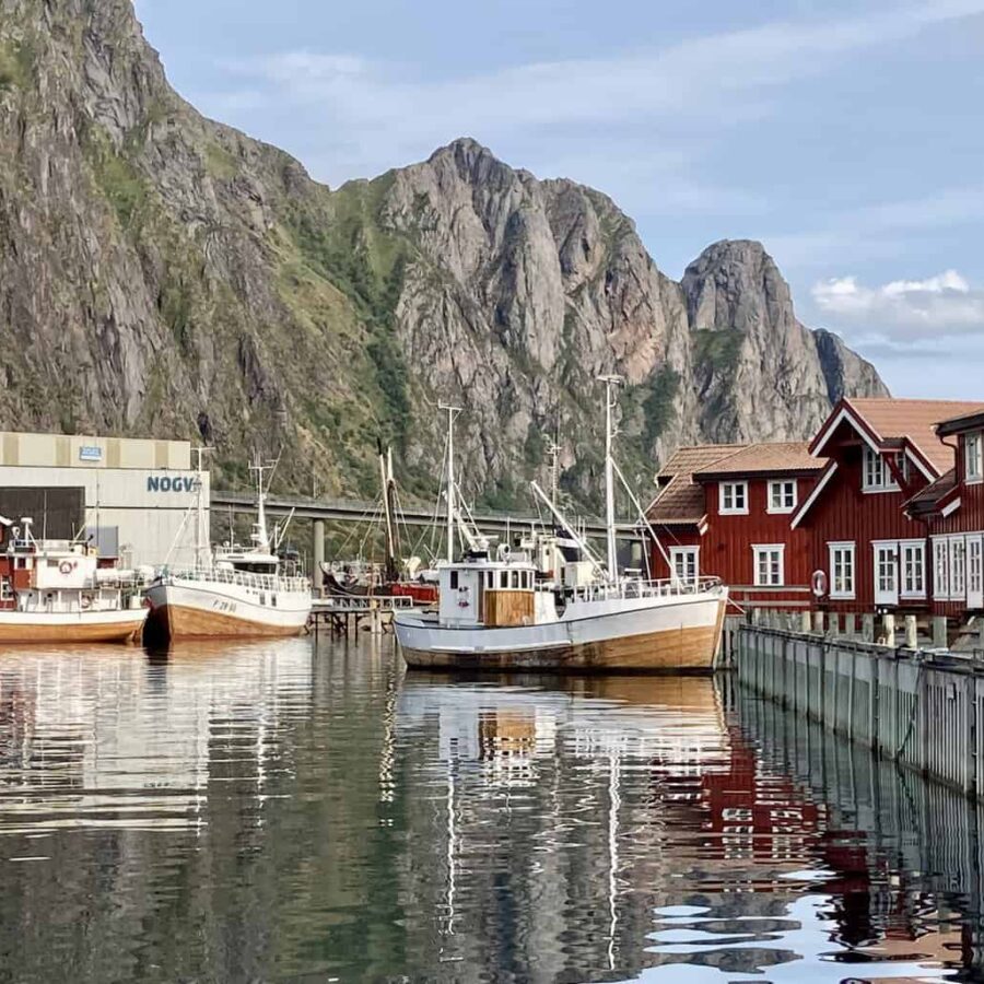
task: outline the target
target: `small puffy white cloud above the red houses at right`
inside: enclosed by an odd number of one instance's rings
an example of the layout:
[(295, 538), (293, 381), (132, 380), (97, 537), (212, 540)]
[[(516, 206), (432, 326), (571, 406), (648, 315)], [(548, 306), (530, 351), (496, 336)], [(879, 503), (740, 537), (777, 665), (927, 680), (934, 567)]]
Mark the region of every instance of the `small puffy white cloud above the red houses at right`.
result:
[(837, 277), (813, 284), (810, 294), (821, 313), (872, 340), (904, 344), (984, 330), (984, 290), (972, 288), (956, 270), (880, 286)]

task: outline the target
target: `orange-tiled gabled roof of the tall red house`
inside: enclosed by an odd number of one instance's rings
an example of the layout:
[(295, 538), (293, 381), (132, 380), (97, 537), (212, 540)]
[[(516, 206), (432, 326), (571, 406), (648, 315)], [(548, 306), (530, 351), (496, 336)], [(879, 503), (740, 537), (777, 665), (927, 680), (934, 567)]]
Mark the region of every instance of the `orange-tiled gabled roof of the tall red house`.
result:
[(846, 420), (876, 450), (898, 446), (905, 438), (932, 477), (953, 464), (953, 449), (939, 440), (936, 424), (957, 415), (984, 412), (984, 403), (965, 400), (897, 400), (891, 397), (843, 399), (813, 438), (810, 452), (821, 455), (842, 421)]

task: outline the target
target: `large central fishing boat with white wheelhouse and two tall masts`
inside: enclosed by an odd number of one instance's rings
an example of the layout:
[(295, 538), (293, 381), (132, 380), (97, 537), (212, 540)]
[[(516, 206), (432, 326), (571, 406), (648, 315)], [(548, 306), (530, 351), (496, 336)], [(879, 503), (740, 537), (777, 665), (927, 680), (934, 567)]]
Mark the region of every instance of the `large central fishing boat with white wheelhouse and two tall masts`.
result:
[[(532, 490), (594, 567), (586, 584), (546, 579), (526, 552), (501, 544), (493, 554), (468, 549), (454, 558), (455, 464), (448, 411), (447, 558), (438, 566), (436, 612), (397, 612), (396, 635), (410, 667), (557, 672), (710, 672), (721, 642), (727, 588), (716, 578), (647, 581), (619, 574), (614, 476), (645, 523), (642, 507), (612, 456), (616, 387), (606, 384), (607, 563), (595, 557), (534, 482)], [(649, 530), (655, 539), (655, 532)], [(658, 543), (658, 540), (656, 540)]]

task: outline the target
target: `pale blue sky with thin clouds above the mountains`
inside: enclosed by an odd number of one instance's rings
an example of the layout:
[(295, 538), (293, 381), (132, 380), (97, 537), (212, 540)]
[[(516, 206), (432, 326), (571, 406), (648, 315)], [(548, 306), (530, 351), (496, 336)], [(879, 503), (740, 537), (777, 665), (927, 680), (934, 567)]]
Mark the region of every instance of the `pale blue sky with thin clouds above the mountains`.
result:
[(457, 137), (673, 278), (765, 244), (904, 397), (984, 399), (984, 0), (137, 0), (175, 87), (337, 186)]

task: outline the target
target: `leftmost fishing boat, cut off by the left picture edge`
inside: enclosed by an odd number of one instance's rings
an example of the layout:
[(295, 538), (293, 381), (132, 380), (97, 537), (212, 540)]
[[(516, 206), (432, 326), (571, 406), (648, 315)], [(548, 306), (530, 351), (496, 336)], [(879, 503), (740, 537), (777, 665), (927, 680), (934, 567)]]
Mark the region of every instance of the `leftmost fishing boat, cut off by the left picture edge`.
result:
[(79, 540), (38, 540), (32, 526), (0, 516), (0, 643), (139, 641), (142, 575)]

